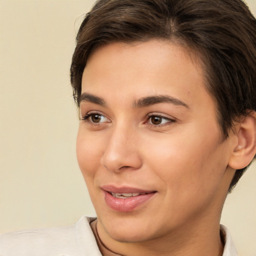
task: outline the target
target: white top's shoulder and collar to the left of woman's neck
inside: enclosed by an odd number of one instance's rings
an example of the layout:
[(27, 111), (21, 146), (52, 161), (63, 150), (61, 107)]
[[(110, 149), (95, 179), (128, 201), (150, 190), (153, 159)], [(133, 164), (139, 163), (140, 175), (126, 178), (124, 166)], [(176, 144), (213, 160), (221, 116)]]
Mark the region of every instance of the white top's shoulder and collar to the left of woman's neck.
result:
[(0, 235), (1, 256), (101, 255), (89, 223), (81, 217), (65, 227), (35, 228)]

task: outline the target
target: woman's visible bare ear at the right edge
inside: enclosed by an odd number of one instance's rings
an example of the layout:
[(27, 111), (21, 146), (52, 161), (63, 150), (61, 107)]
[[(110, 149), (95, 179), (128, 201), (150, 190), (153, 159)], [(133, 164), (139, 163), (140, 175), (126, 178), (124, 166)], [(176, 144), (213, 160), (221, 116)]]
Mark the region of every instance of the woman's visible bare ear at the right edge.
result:
[(256, 153), (256, 112), (252, 111), (235, 125), (234, 143), (228, 165), (233, 169), (247, 166)]

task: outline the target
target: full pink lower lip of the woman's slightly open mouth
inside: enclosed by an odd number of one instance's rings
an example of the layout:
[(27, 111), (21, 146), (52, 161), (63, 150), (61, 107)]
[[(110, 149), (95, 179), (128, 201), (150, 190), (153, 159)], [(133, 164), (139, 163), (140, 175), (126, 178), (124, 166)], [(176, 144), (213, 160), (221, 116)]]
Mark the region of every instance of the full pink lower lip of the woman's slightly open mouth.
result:
[(120, 212), (129, 212), (134, 210), (139, 205), (145, 203), (148, 201), (155, 192), (147, 193), (147, 194), (141, 194), (137, 196), (131, 196), (127, 198), (116, 198), (112, 196), (107, 191), (103, 190), (105, 194), (105, 202), (107, 206), (109, 206), (111, 209), (120, 211)]

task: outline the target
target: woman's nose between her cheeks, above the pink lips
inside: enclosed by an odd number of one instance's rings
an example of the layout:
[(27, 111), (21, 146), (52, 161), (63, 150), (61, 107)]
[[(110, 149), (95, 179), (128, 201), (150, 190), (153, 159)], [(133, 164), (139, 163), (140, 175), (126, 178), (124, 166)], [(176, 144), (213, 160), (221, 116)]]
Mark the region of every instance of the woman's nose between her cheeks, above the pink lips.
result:
[(136, 170), (142, 165), (135, 132), (130, 128), (116, 127), (109, 134), (101, 165), (109, 171)]

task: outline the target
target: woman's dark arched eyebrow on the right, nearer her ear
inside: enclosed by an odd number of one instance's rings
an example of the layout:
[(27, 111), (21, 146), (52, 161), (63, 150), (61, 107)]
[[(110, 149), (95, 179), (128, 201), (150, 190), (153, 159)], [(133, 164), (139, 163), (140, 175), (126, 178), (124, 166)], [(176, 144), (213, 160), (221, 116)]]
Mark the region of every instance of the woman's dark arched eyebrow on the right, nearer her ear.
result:
[(169, 95), (154, 95), (154, 96), (143, 97), (143, 98), (134, 100), (132, 106), (145, 107), (145, 106), (150, 106), (158, 103), (172, 103), (177, 106), (184, 106), (186, 108), (189, 108), (189, 106), (185, 102), (177, 98), (171, 97)]

